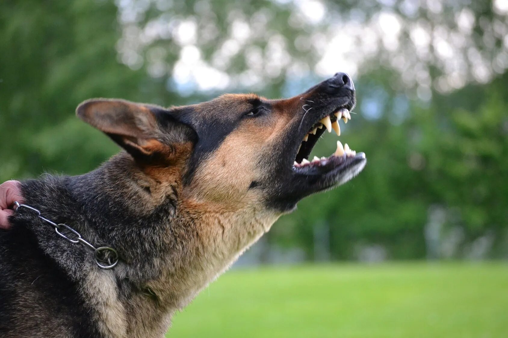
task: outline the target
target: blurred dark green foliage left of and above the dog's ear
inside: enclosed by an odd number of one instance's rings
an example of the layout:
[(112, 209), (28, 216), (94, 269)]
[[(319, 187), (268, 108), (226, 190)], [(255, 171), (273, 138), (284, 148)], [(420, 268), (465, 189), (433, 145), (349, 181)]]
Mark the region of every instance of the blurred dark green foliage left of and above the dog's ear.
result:
[(0, 7), (0, 177), (97, 166), (115, 147), (74, 117), (77, 104), (93, 96), (139, 98), (144, 77), (116, 61), (116, 7), (96, 1)]

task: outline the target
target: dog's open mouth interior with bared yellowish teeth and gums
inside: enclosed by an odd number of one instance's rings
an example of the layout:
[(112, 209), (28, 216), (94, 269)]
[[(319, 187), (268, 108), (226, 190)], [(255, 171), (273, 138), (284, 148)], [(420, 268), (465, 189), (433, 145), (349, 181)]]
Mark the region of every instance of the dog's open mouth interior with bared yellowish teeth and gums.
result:
[(312, 160), (308, 159), (312, 149), (325, 130), (328, 130), (328, 132), (334, 130), (337, 136), (340, 136), (340, 120), (344, 123), (351, 120), (351, 112), (346, 107), (337, 108), (312, 125), (298, 148), (295, 162), (293, 163), (293, 170), (299, 173), (312, 174), (315, 172), (317, 174), (332, 170), (337, 166), (347, 165), (347, 162), (353, 161), (356, 158), (365, 158), (364, 153), (357, 154), (356, 151), (350, 149), (347, 143), (342, 145), (340, 141), (337, 141), (337, 149), (330, 156), (321, 158), (314, 156)]

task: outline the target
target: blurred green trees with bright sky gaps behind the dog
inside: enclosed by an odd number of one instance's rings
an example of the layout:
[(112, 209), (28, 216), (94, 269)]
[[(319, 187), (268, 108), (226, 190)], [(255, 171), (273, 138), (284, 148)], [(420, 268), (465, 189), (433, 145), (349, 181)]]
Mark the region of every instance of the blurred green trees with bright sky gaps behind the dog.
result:
[[(334, 259), (374, 247), (422, 258), (438, 205), (464, 233), (452, 257), (488, 235), (490, 256), (507, 255), (507, 14), (500, 0), (4, 1), (0, 181), (83, 173), (116, 152), (74, 117), (90, 97), (289, 96), (345, 70), (359, 103), (340, 139), (368, 165), (302, 201), (267, 243), (312, 258), (317, 225)], [(334, 150), (324, 139), (318, 156)]]

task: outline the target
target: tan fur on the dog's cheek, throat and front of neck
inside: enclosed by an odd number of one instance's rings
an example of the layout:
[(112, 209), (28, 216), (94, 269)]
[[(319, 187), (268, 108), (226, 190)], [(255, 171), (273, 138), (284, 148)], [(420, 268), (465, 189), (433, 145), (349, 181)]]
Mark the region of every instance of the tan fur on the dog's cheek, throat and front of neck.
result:
[[(223, 95), (207, 105), (214, 105), (213, 112), (217, 107), (223, 113), (245, 110), (248, 108), (245, 100), (252, 97), (257, 96)], [(201, 112), (211, 113), (212, 110), (203, 105)], [(249, 190), (248, 187), (252, 180), (264, 174), (263, 168), (257, 166), (260, 156), (267, 153), (263, 147), (268, 148), (277, 141), (277, 135), (290, 118), (280, 111), (261, 127), (254, 121), (242, 122), (213, 156), (200, 164), (192, 183), (186, 187), (182, 186), (181, 178), (185, 161), (192, 152), (190, 144), (179, 145), (174, 153), (163, 149), (168, 154), (168, 163), (164, 165), (142, 166), (141, 171), (132, 166), (130, 175), (136, 185), (140, 189), (149, 187), (151, 191), (149, 197), (139, 202), (153, 207), (168, 194), (180, 196), (177, 221), (192, 223), (196, 238), (187, 239), (185, 244), (191, 249), (182, 253), (186, 256), (182, 257), (181, 266), (164, 267), (170, 264), (164, 259), (158, 262), (162, 271), (167, 273), (146, 285), (156, 294), (157, 305), (153, 304), (153, 299), (143, 295), (132, 299), (128, 305), (115, 305), (114, 302), (98, 305), (102, 308), (100, 313), (105, 333), (112, 337), (163, 336), (171, 315), (185, 307), (270, 229), (280, 214), (267, 211), (260, 190)], [(154, 147), (163, 146), (155, 144)], [(90, 290), (102, 288), (104, 298), (115, 297), (104, 280), (92, 283), (97, 285)], [(139, 311), (125, 319), (121, 310), (125, 313), (125, 308)], [(122, 328), (125, 321), (130, 327), (128, 333)]]

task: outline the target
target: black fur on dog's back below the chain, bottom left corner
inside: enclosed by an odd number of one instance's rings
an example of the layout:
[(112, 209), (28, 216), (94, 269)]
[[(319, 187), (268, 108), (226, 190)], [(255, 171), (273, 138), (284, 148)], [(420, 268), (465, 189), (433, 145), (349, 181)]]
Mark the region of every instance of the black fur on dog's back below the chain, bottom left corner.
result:
[[(0, 230), (0, 336), (36, 336), (35, 332), (53, 336), (65, 322), (73, 337), (102, 337), (95, 329), (92, 309), (79, 295), (75, 276), (41, 249), (29, 229), (31, 224), (22, 218), (37, 222), (27, 212), (24, 217), (11, 218), (12, 230)], [(52, 227), (45, 225), (44, 229), (54, 236)]]

